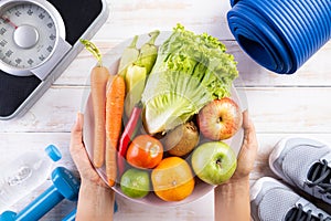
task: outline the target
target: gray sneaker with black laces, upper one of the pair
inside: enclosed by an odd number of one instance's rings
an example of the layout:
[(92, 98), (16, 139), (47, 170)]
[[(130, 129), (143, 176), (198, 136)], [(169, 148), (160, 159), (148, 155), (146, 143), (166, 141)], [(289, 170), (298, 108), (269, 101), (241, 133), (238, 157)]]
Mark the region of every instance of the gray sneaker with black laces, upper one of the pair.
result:
[(269, 166), (289, 185), (331, 204), (330, 146), (309, 138), (284, 138), (271, 151)]

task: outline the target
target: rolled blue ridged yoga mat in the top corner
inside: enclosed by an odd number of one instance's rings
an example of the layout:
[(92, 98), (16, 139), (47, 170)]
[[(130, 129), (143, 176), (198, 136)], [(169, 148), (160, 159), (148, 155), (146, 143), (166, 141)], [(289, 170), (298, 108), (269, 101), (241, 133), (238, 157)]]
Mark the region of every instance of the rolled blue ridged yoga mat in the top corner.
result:
[(331, 0), (231, 0), (228, 27), (261, 66), (292, 74), (331, 39)]

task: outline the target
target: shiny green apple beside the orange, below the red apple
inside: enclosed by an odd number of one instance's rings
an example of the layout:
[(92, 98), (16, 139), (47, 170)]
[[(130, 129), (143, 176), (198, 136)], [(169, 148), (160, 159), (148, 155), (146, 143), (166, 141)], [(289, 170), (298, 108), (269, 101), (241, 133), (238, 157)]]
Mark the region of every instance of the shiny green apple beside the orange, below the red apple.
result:
[(196, 147), (192, 154), (195, 175), (210, 185), (227, 181), (237, 167), (234, 150), (223, 141), (209, 141)]

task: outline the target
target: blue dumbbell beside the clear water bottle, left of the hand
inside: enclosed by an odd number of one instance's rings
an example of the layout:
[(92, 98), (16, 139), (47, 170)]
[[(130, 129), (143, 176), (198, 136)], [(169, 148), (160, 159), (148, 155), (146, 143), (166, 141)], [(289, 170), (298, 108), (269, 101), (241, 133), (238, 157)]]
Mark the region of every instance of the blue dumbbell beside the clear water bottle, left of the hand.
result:
[(39, 220), (63, 199), (75, 201), (78, 197), (79, 180), (64, 167), (57, 167), (52, 172), (53, 185), (33, 200), (21, 212), (6, 211), (0, 215), (0, 221), (31, 221)]

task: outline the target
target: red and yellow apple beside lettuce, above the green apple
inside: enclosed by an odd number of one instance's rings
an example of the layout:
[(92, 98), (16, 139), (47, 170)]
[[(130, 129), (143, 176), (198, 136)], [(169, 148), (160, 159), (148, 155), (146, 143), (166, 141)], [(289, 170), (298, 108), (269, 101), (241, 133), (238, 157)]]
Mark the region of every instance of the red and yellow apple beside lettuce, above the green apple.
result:
[(197, 115), (200, 131), (212, 140), (231, 138), (241, 128), (242, 122), (239, 106), (228, 97), (210, 102)]

